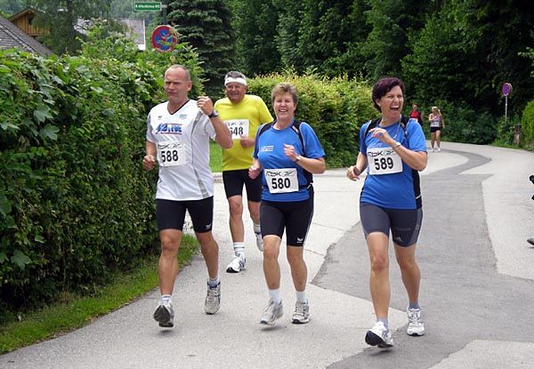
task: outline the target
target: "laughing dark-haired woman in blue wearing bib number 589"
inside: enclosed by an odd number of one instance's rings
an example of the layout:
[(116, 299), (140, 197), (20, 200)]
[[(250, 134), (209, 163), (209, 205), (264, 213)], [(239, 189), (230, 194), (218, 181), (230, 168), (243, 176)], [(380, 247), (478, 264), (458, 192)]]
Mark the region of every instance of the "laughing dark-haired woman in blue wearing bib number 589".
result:
[(404, 84), (398, 78), (382, 78), (373, 87), (373, 103), (380, 118), (360, 129), (360, 153), (347, 170), (358, 180), (367, 169), (360, 195), (360, 222), (368, 245), (371, 264), (369, 286), (376, 324), (365, 341), (379, 348), (392, 347), (388, 326), (390, 303), (389, 235), (408, 293), (409, 335), (425, 334), (419, 306), (421, 274), (416, 261), (416, 243), (423, 220), (418, 171), (426, 166), (425, 134), (414, 120), (401, 119)]

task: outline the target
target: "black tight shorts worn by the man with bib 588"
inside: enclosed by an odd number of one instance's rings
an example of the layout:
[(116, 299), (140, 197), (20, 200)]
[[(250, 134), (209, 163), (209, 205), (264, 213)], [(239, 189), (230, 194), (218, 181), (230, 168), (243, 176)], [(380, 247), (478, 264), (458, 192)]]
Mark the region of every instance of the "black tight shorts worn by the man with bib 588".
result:
[(206, 233), (212, 230), (214, 223), (214, 197), (187, 201), (156, 199), (158, 230), (182, 230), (186, 210), (190, 213), (195, 232)]

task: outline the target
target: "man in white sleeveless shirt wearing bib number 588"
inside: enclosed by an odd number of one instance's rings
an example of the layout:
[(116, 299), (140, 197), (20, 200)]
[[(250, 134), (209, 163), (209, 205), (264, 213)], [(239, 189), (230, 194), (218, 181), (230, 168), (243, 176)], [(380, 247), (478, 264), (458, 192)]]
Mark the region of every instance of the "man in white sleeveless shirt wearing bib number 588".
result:
[(189, 99), (191, 86), (187, 68), (174, 65), (166, 70), (164, 90), (168, 100), (150, 110), (146, 156), (142, 160), (147, 171), (157, 163), (159, 166), (156, 221), (161, 242), (158, 263), (161, 298), (153, 317), (159, 326), (167, 328), (174, 326), (171, 299), (186, 211), (206, 261), (206, 314), (214, 314), (221, 304), (219, 246), (212, 235), (214, 178), (209, 167), (209, 140), (223, 148), (231, 148), (232, 140), (209, 97)]

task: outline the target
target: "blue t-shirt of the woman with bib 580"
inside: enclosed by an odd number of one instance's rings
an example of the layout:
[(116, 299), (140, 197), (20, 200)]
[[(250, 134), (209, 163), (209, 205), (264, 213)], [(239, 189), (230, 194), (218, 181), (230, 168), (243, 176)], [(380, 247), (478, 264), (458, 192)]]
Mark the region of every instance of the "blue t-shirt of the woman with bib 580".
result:
[(277, 130), (271, 126), (271, 128), (260, 135), (259, 132), (261, 131), (262, 127), (258, 129), (258, 134), (256, 135), (253, 156), (259, 160), (263, 169), (296, 168), (299, 184), (298, 191), (271, 194), (267, 187), (267, 180), (264, 175), (265, 171), (263, 171), (261, 174), (263, 183), (262, 199), (267, 201), (289, 202), (303, 201), (310, 198), (310, 193), (306, 189), (308, 182), (304, 176), (304, 170), (299, 164), (294, 163), (284, 154), (284, 144), (293, 145), (297, 155), (311, 157), (313, 159), (325, 156), (325, 151), (320, 145), (317, 135), (313, 132), (312, 126), (305, 122), (302, 122), (299, 126), (304, 145), (298, 133), (291, 128), (291, 125), (283, 130)]

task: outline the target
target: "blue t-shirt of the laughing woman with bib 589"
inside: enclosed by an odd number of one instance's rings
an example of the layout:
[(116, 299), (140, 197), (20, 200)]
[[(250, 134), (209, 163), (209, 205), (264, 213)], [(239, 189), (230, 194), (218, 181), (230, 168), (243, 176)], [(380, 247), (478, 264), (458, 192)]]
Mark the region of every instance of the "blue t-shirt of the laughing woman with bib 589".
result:
[[(389, 145), (372, 137), (372, 133), (368, 132), (365, 135), (369, 124), (370, 122), (363, 124), (360, 129), (360, 152), (365, 156), (367, 156), (368, 148), (390, 148)], [(393, 140), (401, 142), (405, 148), (426, 152), (425, 133), (416, 119), (409, 119), (406, 124), (407, 134), (399, 123), (392, 124), (385, 130)], [(416, 209), (412, 168), (402, 162), (402, 172), (381, 175), (368, 173), (361, 190), (360, 203), (390, 209)]]

